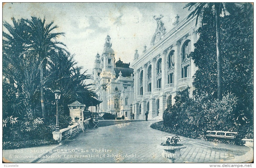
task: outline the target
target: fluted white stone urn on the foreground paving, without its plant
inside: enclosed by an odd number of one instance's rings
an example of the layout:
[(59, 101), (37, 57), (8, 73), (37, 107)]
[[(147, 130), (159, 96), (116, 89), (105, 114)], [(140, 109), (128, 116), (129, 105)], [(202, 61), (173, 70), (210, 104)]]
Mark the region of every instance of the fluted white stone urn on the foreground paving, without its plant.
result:
[(168, 158), (170, 163), (174, 163), (175, 159), (177, 159), (181, 156), (180, 149), (186, 148), (185, 145), (181, 145), (181, 146), (163, 146), (163, 145), (160, 145), (160, 147), (163, 149), (162, 156), (164, 158)]

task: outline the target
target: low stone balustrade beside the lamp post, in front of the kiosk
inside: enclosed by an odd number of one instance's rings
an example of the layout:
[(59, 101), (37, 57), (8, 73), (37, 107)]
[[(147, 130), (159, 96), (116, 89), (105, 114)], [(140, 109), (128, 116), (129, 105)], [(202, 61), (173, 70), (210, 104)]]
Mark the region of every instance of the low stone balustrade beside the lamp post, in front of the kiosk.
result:
[(53, 139), (61, 142), (64, 139), (69, 139), (71, 136), (78, 133), (79, 127), (78, 123), (75, 123), (71, 126), (68, 126), (68, 128), (63, 128), (60, 131), (54, 131), (52, 132)]

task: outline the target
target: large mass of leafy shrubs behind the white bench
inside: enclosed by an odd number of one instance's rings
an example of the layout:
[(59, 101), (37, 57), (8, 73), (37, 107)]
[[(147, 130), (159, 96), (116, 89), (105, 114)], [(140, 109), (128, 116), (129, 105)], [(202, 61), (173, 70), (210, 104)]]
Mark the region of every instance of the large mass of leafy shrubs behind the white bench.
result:
[(242, 144), (240, 139), (253, 134), (252, 116), (233, 93), (226, 93), (222, 100), (213, 94), (196, 93), (191, 98), (188, 89), (179, 92), (174, 97), (175, 104), (163, 113), (162, 129), (197, 139), (205, 139), (202, 135), (207, 130), (238, 132), (236, 142)]

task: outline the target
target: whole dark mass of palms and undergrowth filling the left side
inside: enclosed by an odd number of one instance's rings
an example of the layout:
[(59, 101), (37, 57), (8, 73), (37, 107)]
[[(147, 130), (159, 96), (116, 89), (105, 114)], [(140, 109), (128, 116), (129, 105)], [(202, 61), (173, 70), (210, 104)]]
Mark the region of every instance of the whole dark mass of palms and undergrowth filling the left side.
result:
[(65, 128), (71, 121), (67, 105), (78, 100), (90, 106), (96, 96), (86, 83), (91, 76), (56, 40), (64, 33), (53, 32), (53, 22), (12, 20), (3, 22), (3, 142), (50, 141), (56, 123), (54, 91), (61, 91), (59, 125)]

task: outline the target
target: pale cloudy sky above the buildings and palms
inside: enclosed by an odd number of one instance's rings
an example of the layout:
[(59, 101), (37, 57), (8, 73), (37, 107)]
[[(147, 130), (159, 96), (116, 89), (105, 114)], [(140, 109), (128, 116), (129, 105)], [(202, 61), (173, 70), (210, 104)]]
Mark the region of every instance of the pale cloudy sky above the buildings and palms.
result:
[[(172, 29), (175, 16), (179, 20), (189, 12), (185, 3), (7, 3), (3, 8), (3, 21), (11, 18), (27, 19), (31, 16), (46, 18), (59, 26), (56, 31), (65, 32), (59, 41), (74, 54), (78, 66), (92, 73), (95, 55), (102, 54), (105, 38), (111, 37), (115, 59), (132, 62), (135, 49), (141, 55), (144, 46), (149, 49), (155, 33), (156, 21), (161, 19), (166, 32)], [(3, 27), (3, 31), (6, 29)]]

